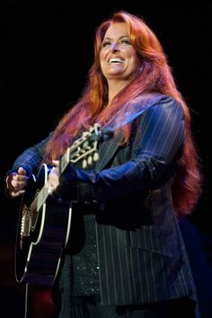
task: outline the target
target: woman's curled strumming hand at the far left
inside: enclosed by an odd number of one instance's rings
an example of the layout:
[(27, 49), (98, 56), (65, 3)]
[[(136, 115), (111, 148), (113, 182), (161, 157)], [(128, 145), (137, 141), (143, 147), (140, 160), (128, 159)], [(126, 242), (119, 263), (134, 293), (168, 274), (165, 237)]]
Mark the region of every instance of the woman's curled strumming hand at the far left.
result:
[(6, 186), (12, 198), (19, 197), (25, 192), (23, 188), (28, 181), (27, 172), (22, 167), (18, 168), (17, 172), (13, 172), (6, 178)]

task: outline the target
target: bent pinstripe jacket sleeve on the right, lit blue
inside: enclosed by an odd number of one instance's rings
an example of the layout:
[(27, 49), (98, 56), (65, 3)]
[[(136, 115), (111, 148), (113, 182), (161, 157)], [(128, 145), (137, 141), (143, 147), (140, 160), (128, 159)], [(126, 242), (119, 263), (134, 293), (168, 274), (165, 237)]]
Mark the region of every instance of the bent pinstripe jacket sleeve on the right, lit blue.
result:
[[(66, 184), (66, 197), (70, 199), (71, 193), (75, 193), (79, 201), (99, 202), (154, 189), (172, 177), (184, 138), (183, 110), (178, 102), (168, 97), (140, 116), (128, 162), (101, 172), (76, 169), (70, 164), (69, 170), (61, 176), (61, 189), (65, 190), (63, 184)], [(57, 190), (59, 193), (59, 187)]]

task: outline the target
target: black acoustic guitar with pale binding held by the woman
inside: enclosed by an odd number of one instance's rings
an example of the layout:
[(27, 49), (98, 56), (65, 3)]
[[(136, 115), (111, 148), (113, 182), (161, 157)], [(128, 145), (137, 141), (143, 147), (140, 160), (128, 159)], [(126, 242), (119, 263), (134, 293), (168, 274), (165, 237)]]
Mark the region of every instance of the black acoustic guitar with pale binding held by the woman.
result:
[[(66, 149), (59, 159), (59, 175), (69, 163), (87, 165), (99, 159), (100, 142), (112, 136), (110, 130), (94, 124)], [(42, 164), (22, 195), (15, 245), (17, 282), (52, 286), (71, 229), (72, 203), (56, 199), (47, 187), (49, 166)]]

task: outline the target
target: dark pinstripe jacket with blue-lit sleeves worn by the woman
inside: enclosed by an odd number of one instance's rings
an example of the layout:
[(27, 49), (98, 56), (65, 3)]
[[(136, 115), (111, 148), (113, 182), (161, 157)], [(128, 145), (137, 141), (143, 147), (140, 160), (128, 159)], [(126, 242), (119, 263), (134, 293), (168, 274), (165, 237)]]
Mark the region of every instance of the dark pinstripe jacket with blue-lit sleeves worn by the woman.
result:
[[(185, 137), (182, 109), (163, 95), (140, 104), (146, 108), (134, 119), (127, 146), (119, 146), (119, 137), (102, 143), (95, 169), (76, 169), (68, 190), (77, 189), (81, 204), (99, 202), (96, 238), (104, 305), (196, 299), (172, 208), (172, 176)], [(27, 149), (12, 170), (21, 165), (33, 172), (46, 142)]]

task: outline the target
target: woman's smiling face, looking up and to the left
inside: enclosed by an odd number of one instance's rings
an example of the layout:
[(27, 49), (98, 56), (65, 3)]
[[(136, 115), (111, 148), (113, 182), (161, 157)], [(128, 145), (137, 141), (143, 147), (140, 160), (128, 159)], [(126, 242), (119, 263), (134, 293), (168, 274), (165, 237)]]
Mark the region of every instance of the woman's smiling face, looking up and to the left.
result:
[(136, 49), (130, 43), (126, 23), (115, 22), (106, 31), (102, 41), (100, 63), (107, 80), (130, 81), (135, 74), (139, 59)]

